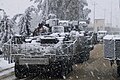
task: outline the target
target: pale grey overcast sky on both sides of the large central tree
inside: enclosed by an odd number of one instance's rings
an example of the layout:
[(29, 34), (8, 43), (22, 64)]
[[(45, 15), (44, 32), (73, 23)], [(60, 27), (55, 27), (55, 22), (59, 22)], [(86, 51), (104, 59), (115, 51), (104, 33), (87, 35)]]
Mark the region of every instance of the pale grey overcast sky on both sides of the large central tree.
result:
[[(87, 0), (89, 8), (92, 10), (92, 13), (89, 15), (93, 20), (94, 7), (93, 3), (96, 3), (96, 18), (103, 19), (104, 11), (106, 22), (110, 23), (111, 16), (111, 1), (112, 1), (112, 17), (113, 25), (120, 24), (120, 11), (119, 11), (119, 0)], [(32, 3), (30, 0), (0, 0), (0, 8), (4, 9), (6, 13), (12, 17), (17, 13), (23, 13), (25, 9), (30, 6)]]

